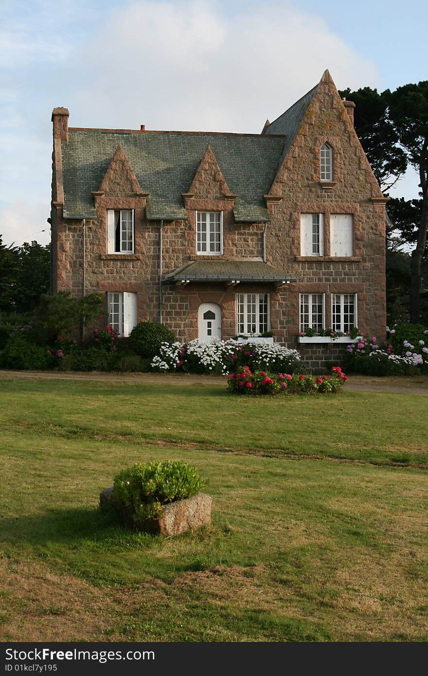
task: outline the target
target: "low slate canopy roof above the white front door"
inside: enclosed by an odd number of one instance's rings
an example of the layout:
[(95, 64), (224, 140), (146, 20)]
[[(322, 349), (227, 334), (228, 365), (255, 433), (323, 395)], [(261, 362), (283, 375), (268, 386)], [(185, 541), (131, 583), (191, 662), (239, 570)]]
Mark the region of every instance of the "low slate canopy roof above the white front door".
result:
[(163, 280), (174, 281), (241, 281), (241, 282), (295, 282), (294, 275), (273, 268), (267, 263), (252, 260), (193, 261), (174, 270)]

